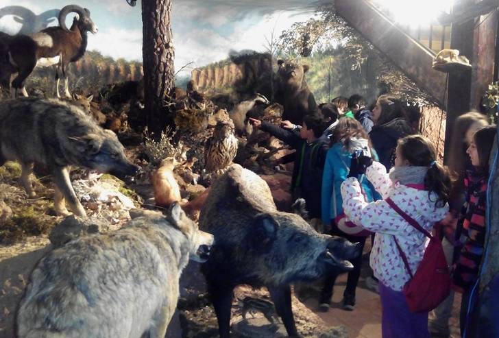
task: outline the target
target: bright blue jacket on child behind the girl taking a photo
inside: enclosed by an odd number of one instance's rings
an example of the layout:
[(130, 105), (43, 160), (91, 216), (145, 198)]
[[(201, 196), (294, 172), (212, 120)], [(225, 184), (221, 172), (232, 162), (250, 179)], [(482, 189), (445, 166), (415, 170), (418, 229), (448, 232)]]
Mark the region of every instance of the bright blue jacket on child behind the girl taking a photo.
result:
[[(373, 152), (375, 160), (378, 156)], [(326, 154), (321, 189), (321, 219), (324, 224), (330, 224), (334, 218), (343, 213), (343, 199), (341, 198), (341, 183), (346, 180), (350, 171), (352, 154), (343, 148), (343, 143), (334, 143)], [(359, 178), (367, 202), (379, 200), (380, 195), (374, 190), (371, 182), (365, 175)]]

